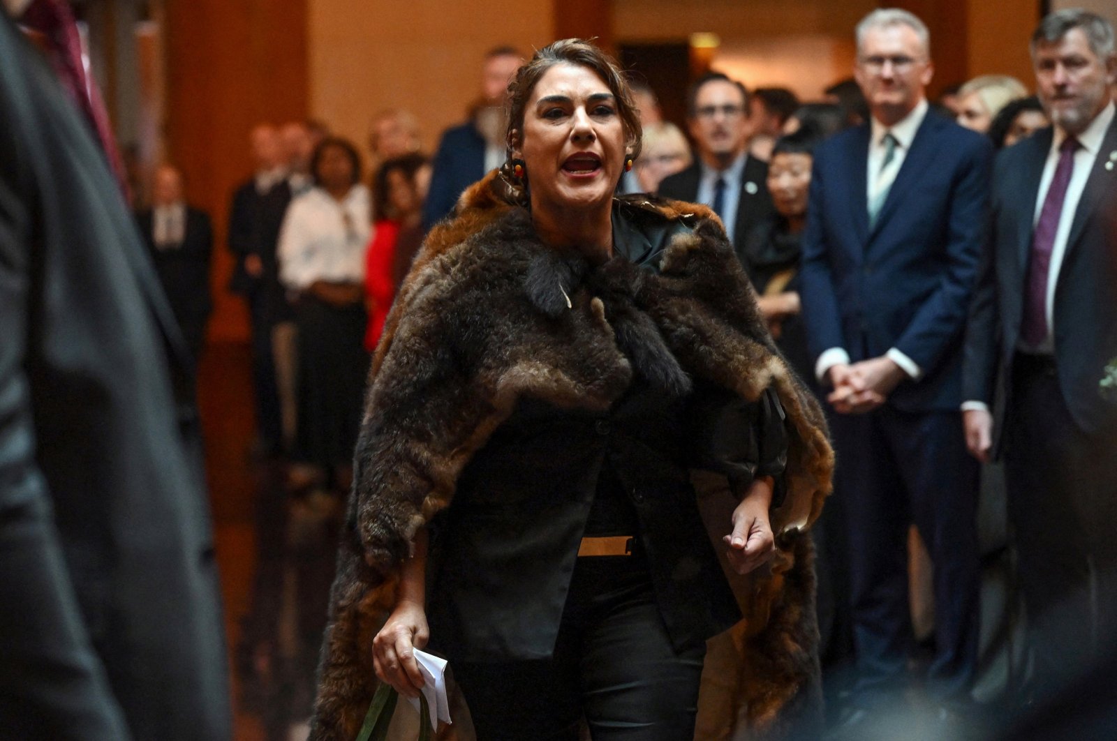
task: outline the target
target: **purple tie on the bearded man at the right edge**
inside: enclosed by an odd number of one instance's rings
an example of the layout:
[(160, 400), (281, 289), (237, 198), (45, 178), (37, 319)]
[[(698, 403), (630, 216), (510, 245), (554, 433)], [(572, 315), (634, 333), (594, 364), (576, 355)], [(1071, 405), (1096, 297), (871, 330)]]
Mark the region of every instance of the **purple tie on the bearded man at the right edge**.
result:
[(1068, 136), (1059, 147), (1059, 164), (1056, 165), (1051, 185), (1043, 198), (1040, 220), (1032, 235), (1032, 250), (1028, 260), (1028, 282), (1024, 287), (1024, 318), (1020, 337), (1030, 347), (1039, 347), (1048, 336), (1047, 287), (1051, 269), (1051, 249), (1059, 231), (1062, 202), (1067, 199), (1067, 186), (1075, 171), (1075, 152), (1078, 139)]

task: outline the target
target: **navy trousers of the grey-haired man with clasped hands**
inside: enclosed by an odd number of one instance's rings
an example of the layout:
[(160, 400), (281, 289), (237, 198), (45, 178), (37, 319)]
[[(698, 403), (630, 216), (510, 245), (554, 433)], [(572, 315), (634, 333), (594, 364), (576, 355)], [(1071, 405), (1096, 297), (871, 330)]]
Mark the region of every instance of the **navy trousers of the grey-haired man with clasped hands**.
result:
[(858, 702), (903, 689), (911, 622), (907, 535), (914, 522), (935, 564), (936, 702), (964, 702), (977, 661), (977, 463), (958, 412), (836, 415), (836, 490), (846, 506)]

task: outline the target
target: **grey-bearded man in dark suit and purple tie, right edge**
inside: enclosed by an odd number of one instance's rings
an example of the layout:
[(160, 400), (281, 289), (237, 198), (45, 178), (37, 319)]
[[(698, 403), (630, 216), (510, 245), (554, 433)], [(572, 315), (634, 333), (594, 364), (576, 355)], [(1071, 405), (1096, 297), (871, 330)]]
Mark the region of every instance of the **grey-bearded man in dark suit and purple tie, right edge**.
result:
[(1117, 627), (1117, 398), (1099, 393), (1117, 357), (1117, 61), (1113, 27), (1079, 10), (1044, 18), (1031, 51), (1053, 127), (996, 161), (963, 414), (975, 456), (1003, 453), (1043, 682)]

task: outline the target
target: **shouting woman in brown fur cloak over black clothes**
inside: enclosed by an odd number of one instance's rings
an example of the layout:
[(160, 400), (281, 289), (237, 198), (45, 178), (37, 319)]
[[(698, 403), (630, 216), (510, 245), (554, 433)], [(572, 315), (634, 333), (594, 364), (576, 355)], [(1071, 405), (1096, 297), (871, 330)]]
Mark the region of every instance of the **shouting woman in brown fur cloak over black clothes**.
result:
[(713, 212), (614, 196), (615, 64), (556, 41), (508, 89), (507, 163), (376, 348), (311, 738), (353, 739), (378, 682), (418, 696), (414, 648), (456, 680), (442, 738), (787, 730), (818, 697), (819, 407)]

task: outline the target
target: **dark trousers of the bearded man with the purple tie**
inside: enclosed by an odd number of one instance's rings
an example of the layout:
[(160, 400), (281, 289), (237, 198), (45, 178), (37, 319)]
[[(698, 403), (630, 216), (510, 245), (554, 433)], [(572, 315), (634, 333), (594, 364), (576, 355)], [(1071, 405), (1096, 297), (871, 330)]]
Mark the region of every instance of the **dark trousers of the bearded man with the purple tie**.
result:
[(1046, 690), (1085, 670), (1117, 635), (1117, 440), (1075, 424), (1050, 358), (1020, 354), (1012, 375), (1009, 521), (1033, 674)]

